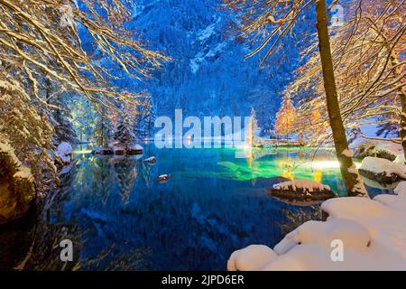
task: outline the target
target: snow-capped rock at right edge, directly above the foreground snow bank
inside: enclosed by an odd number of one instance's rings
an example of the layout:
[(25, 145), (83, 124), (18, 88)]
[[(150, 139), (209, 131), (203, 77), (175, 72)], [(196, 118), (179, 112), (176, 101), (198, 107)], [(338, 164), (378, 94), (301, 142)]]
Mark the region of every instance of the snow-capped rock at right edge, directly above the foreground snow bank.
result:
[(359, 168), (359, 173), (380, 183), (394, 183), (406, 180), (406, 165), (368, 156)]

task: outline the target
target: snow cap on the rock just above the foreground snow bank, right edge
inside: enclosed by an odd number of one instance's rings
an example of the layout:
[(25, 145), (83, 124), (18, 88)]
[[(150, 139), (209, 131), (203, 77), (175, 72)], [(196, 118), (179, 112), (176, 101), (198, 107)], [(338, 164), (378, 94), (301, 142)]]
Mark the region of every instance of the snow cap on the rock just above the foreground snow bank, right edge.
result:
[(406, 166), (379, 157), (365, 157), (359, 169), (376, 174), (385, 173), (386, 176), (396, 174), (406, 180)]

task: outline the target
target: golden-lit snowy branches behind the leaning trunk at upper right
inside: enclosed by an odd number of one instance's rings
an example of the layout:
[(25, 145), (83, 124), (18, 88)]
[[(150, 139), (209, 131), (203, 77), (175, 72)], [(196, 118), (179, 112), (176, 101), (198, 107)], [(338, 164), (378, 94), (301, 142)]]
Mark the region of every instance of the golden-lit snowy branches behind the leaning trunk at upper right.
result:
[[(402, 104), (406, 98), (402, 80), (406, 64), (401, 52), (406, 38), (406, 5), (399, 0), (385, 3), (365, 0), (342, 5), (346, 5), (344, 22), (330, 29), (334, 32), (332, 58), (344, 125), (348, 131), (364, 124), (377, 125), (377, 134), (384, 131), (381, 131), (383, 127), (392, 130), (399, 126), (401, 129), (400, 123), (406, 123), (401, 117), (401, 112), (406, 111), (405, 103)], [(323, 128), (322, 123), (328, 122), (328, 115), (318, 43), (315, 41), (304, 52), (306, 61), (296, 70), (296, 78), (286, 93), (300, 98), (298, 109), (303, 119), (318, 109), (318, 125)], [(328, 129), (315, 127), (315, 135), (319, 135), (320, 140), (331, 139)], [(359, 136), (370, 138), (361, 132)], [(401, 143), (406, 151), (403, 137), (377, 139)]]

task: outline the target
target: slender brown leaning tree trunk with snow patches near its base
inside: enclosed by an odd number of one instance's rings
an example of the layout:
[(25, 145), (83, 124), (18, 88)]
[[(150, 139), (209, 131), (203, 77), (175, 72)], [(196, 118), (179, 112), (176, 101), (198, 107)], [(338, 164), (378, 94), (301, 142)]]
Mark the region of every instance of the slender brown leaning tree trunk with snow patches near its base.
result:
[(333, 133), (333, 140), (336, 147), (337, 160), (340, 163), (340, 170), (346, 184), (348, 196), (365, 196), (364, 182), (358, 174), (355, 163), (349, 154), (346, 142), (346, 130), (341, 118), (338, 105), (336, 79), (334, 77), (333, 59), (331, 57), (330, 41), (328, 36), (328, 16), (326, 1), (316, 1), (316, 16), (318, 29), (318, 48), (320, 53), (321, 66), (323, 70), (324, 89), (326, 90), (326, 101), (328, 107), (328, 118)]

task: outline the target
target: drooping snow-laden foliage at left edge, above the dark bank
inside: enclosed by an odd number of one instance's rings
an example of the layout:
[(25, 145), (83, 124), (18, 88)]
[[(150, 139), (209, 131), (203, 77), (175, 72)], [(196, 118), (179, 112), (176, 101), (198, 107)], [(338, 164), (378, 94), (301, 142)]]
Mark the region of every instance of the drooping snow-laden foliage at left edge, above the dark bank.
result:
[(39, 191), (45, 177), (55, 172), (52, 150), (53, 127), (20, 84), (0, 73), (0, 135), (14, 149), (16, 157), (29, 166)]

